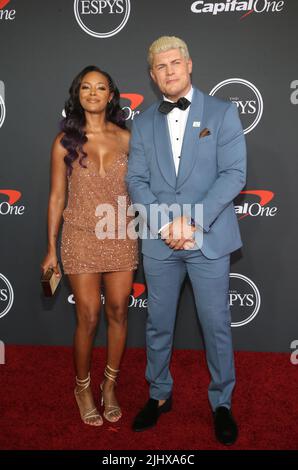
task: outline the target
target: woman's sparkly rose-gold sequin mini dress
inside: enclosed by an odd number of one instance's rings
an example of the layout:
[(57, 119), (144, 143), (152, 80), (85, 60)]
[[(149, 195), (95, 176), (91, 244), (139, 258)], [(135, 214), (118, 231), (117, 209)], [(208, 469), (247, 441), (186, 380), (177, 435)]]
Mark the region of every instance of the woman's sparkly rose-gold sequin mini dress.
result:
[(83, 159), (86, 168), (79, 159), (73, 162), (61, 240), (65, 274), (137, 268), (138, 240), (131, 236), (134, 216), (127, 215), (127, 161), (126, 154), (119, 154), (105, 176), (88, 157)]

